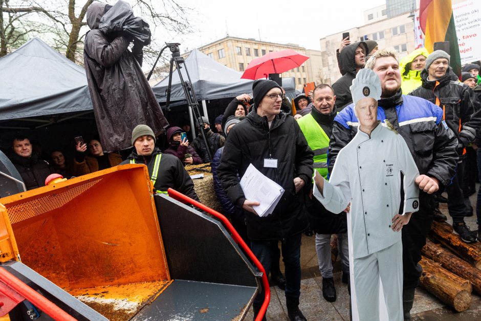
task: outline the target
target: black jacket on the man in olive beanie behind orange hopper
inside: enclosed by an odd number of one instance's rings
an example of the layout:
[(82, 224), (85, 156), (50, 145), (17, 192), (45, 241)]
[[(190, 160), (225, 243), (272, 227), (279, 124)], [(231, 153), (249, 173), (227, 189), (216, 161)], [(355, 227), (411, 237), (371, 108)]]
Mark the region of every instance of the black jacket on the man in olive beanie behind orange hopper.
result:
[[(154, 152), (149, 156), (138, 155), (134, 148), (132, 153), (130, 153), (127, 159), (120, 163), (120, 165), (130, 164), (130, 160), (135, 159), (136, 164), (144, 164), (147, 166), (148, 174), (151, 177), (152, 170), (154, 170), (155, 156), (157, 154), (162, 154), (158, 147), (155, 147)], [(197, 194), (195, 194), (194, 183), (186, 172), (182, 161), (173, 155), (162, 154), (159, 164), (159, 173), (154, 187), (159, 191), (167, 191), (168, 188), (172, 188), (191, 199), (199, 201)]]

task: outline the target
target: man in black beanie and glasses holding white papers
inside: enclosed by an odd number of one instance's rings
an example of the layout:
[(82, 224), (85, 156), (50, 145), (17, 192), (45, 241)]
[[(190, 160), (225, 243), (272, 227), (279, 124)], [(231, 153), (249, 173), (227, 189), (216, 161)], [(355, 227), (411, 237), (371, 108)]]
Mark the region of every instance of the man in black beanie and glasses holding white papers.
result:
[[(252, 251), (267, 274), (272, 243), (282, 241), (288, 314), (291, 320), (305, 320), (298, 307), (300, 240), (308, 226), (302, 190), (311, 188), (313, 153), (296, 120), (281, 112), (283, 95), (279, 85), (272, 80), (256, 80), (252, 90), (254, 109), (230, 131), (217, 174), (232, 203), (244, 208)], [(250, 164), (285, 189), (273, 212), (265, 217), (256, 214), (253, 206), (259, 203), (245, 198), (237, 178)], [(254, 300), (255, 315), (263, 297), (259, 293)]]

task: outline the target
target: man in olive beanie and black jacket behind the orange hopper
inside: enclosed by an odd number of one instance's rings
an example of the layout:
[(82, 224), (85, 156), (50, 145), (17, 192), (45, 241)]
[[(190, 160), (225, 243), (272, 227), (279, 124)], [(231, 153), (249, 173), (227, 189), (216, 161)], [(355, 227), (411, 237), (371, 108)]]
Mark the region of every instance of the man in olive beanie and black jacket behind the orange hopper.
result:
[(132, 131), (134, 150), (123, 164), (144, 164), (148, 168), (150, 180), (158, 193), (167, 193), (175, 189), (182, 194), (199, 201), (195, 194), (194, 183), (186, 172), (182, 161), (176, 156), (162, 154), (155, 146), (154, 132), (147, 125), (137, 125)]

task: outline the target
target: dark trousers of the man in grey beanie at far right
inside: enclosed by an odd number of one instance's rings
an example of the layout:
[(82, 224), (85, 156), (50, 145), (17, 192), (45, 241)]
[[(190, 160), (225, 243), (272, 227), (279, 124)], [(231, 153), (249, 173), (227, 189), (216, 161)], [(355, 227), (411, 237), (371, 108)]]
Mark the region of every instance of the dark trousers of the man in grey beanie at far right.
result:
[(463, 190), (461, 189), (464, 165), (464, 162), (457, 163), (456, 175), (454, 175), (452, 184), (446, 188), (446, 192), (448, 193), (448, 210), (449, 215), (453, 219), (453, 223), (464, 222), (464, 217), (467, 212)]

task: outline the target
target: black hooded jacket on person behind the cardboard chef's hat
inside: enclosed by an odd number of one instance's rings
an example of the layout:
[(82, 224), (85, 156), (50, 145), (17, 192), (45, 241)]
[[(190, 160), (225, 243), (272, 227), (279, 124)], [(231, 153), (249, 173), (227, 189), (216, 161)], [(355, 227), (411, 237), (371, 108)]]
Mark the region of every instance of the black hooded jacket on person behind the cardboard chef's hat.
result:
[(356, 78), (356, 49), (362, 46), (364, 53), (367, 54), (367, 45), (365, 42), (355, 42), (349, 46), (344, 47), (339, 55), (339, 62), (346, 73), (333, 84), (334, 94), (336, 95), (336, 107), (341, 111), (346, 105), (353, 102), (351, 90), (349, 87), (353, 84), (353, 79)]

